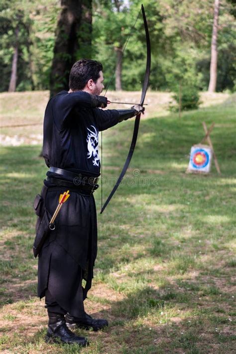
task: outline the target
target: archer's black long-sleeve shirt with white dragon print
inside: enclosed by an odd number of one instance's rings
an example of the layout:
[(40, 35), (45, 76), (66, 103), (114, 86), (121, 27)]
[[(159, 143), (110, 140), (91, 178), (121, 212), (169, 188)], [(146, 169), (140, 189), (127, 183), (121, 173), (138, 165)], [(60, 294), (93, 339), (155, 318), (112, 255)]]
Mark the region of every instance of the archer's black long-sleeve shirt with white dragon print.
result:
[(92, 108), (91, 98), (84, 91), (62, 91), (48, 102), (43, 124), (43, 157), (48, 167), (100, 175), (99, 131), (116, 125), (119, 113)]

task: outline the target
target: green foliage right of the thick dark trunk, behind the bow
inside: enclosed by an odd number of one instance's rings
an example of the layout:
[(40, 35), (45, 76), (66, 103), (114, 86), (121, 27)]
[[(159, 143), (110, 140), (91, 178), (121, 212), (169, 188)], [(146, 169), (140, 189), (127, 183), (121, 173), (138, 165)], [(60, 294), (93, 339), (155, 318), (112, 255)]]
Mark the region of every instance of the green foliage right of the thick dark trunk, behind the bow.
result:
[[(123, 2), (123, 1), (119, 1)], [(145, 35), (141, 16), (135, 29), (132, 25), (140, 9), (139, 1), (117, 12), (114, 2), (104, 1), (94, 11), (94, 50), (105, 63), (105, 73), (111, 78), (116, 66), (115, 43), (131, 33), (123, 57), (122, 85), (126, 90), (139, 90), (145, 71)], [(199, 90), (209, 84), (211, 36), (214, 4), (201, 0), (144, 1), (152, 48), (150, 87), (153, 90), (174, 90), (180, 80), (195, 82)], [(235, 90), (236, 50), (233, 5), (222, 1), (220, 12), (218, 91)], [(109, 13), (109, 15), (108, 15)], [(104, 20), (106, 18), (106, 20)], [(115, 35), (115, 37), (114, 37)], [(101, 42), (103, 46), (101, 46)], [(131, 65), (130, 65), (131, 64)], [(113, 78), (111, 86), (115, 87)]]

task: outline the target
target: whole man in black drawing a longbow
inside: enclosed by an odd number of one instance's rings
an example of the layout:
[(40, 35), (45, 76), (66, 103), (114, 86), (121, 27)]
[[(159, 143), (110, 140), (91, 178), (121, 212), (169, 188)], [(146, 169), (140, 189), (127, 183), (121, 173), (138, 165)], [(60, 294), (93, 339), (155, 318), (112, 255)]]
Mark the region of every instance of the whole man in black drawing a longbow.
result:
[(100, 175), (98, 137), (99, 131), (144, 109), (135, 105), (129, 110), (101, 110), (109, 103), (99, 96), (103, 80), (101, 63), (79, 60), (70, 72), (69, 92), (53, 97), (45, 111), (43, 157), (49, 171), (40, 202), (35, 204), (37, 230), (44, 227), (45, 220), (48, 224), (60, 194), (70, 191), (55, 220), (55, 229), (49, 232), (38, 254), (38, 296), (45, 296), (49, 317), (47, 341), (86, 346), (87, 340), (68, 327), (92, 327), (96, 331), (108, 326), (107, 320), (93, 319), (84, 309), (97, 255), (93, 192)]

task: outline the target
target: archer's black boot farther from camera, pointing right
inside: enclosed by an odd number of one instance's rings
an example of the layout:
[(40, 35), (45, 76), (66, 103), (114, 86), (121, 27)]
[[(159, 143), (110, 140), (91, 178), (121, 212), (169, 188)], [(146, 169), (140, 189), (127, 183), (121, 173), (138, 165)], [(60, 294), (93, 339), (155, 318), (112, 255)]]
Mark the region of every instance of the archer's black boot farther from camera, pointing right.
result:
[(87, 313), (85, 313), (84, 318), (77, 318), (71, 316), (69, 313), (66, 314), (66, 325), (68, 327), (79, 327), (79, 328), (84, 328), (86, 330), (90, 329), (91, 327), (93, 328), (94, 331), (101, 330), (102, 328), (108, 326), (108, 321), (103, 320), (103, 319), (94, 319), (91, 316), (89, 316)]

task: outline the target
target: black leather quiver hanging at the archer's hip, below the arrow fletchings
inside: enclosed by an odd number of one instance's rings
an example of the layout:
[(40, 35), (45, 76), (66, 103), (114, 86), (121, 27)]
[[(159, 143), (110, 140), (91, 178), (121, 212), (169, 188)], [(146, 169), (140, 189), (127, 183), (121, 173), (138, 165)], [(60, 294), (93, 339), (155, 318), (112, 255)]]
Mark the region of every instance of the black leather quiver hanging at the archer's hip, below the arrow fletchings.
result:
[(39, 254), (45, 239), (49, 235), (49, 232), (55, 232), (49, 229), (49, 222), (51, 218), (50, 213), (44, 209), (43, 215), (39, 218), (39, 223), (37, 223), (37, 230), (33, 244), (33, 254), (35, 258)]

